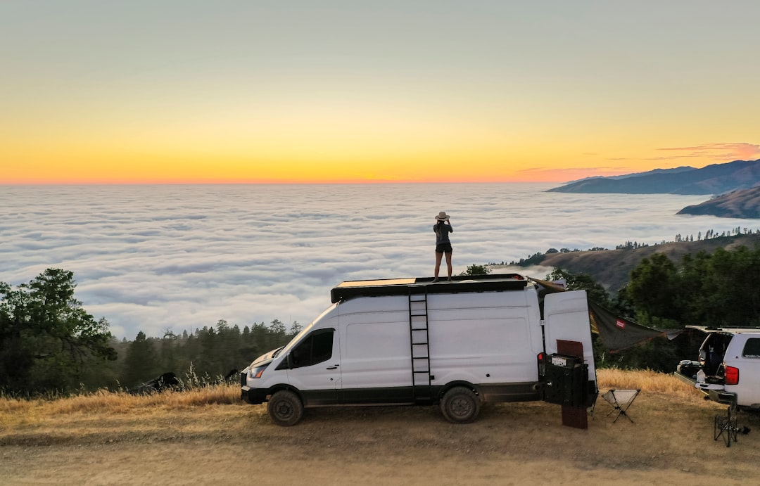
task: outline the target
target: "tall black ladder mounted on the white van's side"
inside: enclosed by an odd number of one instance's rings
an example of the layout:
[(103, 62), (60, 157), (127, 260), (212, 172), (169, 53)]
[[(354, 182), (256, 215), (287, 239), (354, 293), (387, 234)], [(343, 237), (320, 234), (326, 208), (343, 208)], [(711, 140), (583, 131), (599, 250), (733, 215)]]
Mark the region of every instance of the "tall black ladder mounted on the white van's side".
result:
[[(409, 289), (409, 332), (412, 348), (412, 399), (432, 401), (427, 291)], [(420, 289), (421, 290), (421, 289)]]

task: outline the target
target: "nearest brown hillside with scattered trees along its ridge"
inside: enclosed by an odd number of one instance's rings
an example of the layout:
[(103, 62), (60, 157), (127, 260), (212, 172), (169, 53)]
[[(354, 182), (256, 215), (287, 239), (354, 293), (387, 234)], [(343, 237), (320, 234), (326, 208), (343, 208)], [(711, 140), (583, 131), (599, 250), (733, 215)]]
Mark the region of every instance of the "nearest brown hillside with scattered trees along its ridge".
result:
[[(587, 273), (611, 293), (616, 293), (629, 282), (631, 270), (643, 258), (654, 253), (665, 254), (673, 262), (678, 262), (685, 254), (713, 253), (717, 248), (732, 250), (739, 246), (755, 248), (760, 245), (760, 234), (720, 236), (700, 241), (677, 241), (622, 250), (570, 251), (548, 253), (543, 257), (530, 257), (523, 266), (540, 265), (555, 267), (570, 273)], [(544, 275), (536, 276), (543, 278)]]

